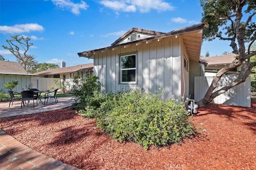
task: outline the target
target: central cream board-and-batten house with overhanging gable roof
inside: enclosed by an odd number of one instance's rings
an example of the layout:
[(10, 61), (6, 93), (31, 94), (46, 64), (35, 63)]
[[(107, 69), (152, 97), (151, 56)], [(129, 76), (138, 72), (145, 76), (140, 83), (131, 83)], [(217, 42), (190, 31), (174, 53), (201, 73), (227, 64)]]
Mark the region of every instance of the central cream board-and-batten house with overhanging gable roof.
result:
[(106, 92), (165, 90), (162, 99), (189, 97), (200, 76), (202, 34), (207, 23), (168, 33), (132, 28), (111, 46), (78, 52), (94, 60), (94, 75)]

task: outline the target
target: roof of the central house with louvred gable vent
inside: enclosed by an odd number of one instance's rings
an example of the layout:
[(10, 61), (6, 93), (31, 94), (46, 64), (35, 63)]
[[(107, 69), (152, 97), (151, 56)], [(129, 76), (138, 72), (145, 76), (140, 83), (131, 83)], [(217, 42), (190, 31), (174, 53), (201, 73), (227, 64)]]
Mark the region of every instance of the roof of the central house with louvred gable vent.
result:
[[(173, 30), (168, 33), (144, 30), (144, 29), (139, 29), (139, 28), (132, 28), (128, 32), (126, 32), (123, 36), (118, 38), (114, 43), (112, 43), (111, 46), (104, 47), (104, 48), (98, 48), (98, 49), (94, 49), (94, 50), (88, 50), (88, 51), (84, 51), (84, 52), (78, 52), (77, 54), (79, 57), (94, 58), (94, 54), (96, 52), (102, 52), (103, 50), (114, 49), (116, 47), (126, 46), (129, 44), (147, 42), (149, 40), (158, 40), (160, 38), (165, 38), (165, 37), (169, 37), (169, 36), (182, 35), (183, 44), (187, 50), (188, 57), (190, 57), (190, 59), (192, 59), (194, 61), (198, 61), (199, 56), (200, 56), (200, 51), (201, 51), (201, 44), (202, 44), (202, 32), (200, 32), (200, 34), (197, 34), (197, 35), (194, 34), (192, 36), (190, 34), (186, 34), (186, 33), (192, 32), (192, 31), (203, 30), (203, 28), (206, 26), (208, 26), (208, 24), (206, 22), (203, 22), (200, 24), (195, 24), (192, 26)], [(127, 38), (127, 36), (129, 34), (131, 34), (132, 32), (148, 34), (149, 36), (146, 36), (144, 39), (124, 42), (124, 43), (120, 44), (120, 42), (122, 40), (124, 40), (124, 38)]]

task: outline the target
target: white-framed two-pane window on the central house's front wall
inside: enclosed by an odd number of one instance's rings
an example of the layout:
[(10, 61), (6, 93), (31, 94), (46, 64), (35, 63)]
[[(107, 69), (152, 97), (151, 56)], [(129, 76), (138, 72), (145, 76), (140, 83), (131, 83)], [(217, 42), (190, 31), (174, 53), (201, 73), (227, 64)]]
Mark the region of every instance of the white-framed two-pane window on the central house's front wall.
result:
[(136, 54), (120, 56), (120, 83), (136, 83)]

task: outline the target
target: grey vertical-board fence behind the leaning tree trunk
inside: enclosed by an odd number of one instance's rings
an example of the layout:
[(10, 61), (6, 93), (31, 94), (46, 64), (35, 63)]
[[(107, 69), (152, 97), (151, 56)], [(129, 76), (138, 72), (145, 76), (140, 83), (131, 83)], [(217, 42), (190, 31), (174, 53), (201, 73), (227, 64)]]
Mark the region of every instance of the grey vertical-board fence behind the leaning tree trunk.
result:
[[(195, 77), (194, 97), (196, 102), (198, 102), (204, 97), (210, 84), (212, 83), (213, 78), (214, 76)], [(218, 89), (218, 87), (222, 85), (232, 82), (236, 78), (237, 78), (237, 75), (222, 76), (222, 78), (217, 84), (216, 89)], [(251, 107), (251, 89), (250, 88), (251, 88), (251, 81), (249, 76), (244, 83), (234, 86), (227, 92), (220, 94), (219, 96), (214, 98), (212, 103)]]

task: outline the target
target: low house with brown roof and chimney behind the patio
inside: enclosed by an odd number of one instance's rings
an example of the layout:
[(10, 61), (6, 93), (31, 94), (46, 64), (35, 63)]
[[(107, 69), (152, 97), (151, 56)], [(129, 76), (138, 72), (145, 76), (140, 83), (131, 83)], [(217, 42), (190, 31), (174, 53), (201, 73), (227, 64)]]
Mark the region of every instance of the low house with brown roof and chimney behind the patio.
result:
[[(70, 85), (72, 85), (74, 77), (84, 78), (86, 75), (93, 75), (93, 63), (66, 67), (66, 63), (62, 62), (61, 68), (34, 73), (34, 76), (41, 78), (60, 78), (60, 82), (70, 82)], [(70, 86), (66, 88), (69, 90)]]

